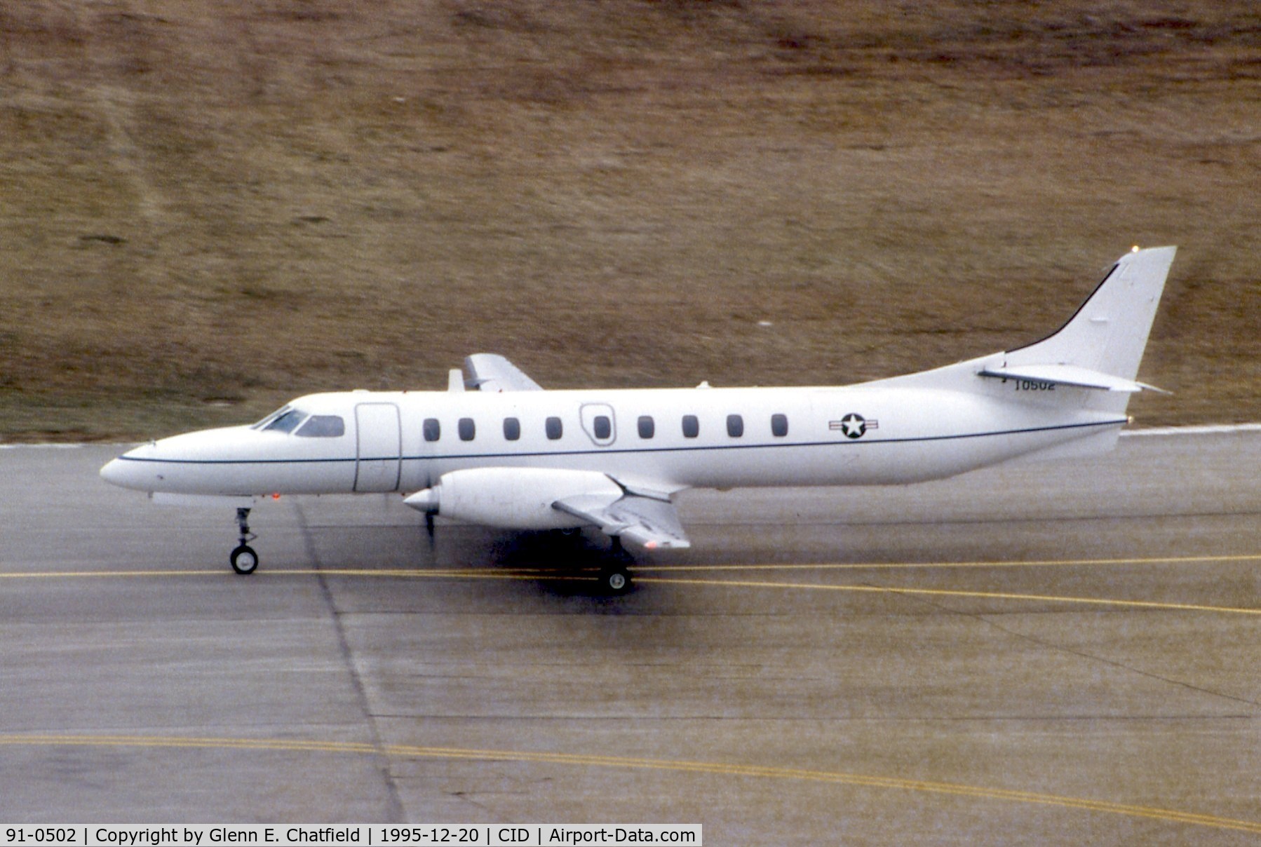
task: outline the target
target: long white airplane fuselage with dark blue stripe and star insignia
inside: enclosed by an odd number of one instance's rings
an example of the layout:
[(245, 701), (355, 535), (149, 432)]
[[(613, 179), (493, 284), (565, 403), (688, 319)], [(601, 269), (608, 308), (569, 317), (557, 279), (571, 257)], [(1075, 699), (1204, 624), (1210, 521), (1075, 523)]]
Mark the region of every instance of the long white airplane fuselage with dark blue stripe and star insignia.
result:
[[(288, 408), (337, 418), (337, 435), (255, 425), (141, 445), (112, 483), (216, 495), (409, 492), (468, 468), (591, 470), (682, 488), (913, 483), (1096, 434), (1124, 415), (1013, 402), (1019, 384), (933, 388), (685, 388), (340, 392)], [(324, 427), (338, 432), (338, 425)]]

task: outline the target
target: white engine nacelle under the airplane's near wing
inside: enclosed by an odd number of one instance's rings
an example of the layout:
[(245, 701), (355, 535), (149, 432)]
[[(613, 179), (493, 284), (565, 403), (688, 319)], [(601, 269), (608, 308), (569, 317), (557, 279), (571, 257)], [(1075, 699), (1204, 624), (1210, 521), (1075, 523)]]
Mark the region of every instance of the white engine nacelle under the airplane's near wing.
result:
[(570, 497), (623, 495), (612, 479), (594, 470), (552, 468), (469, 468), (443, 474), (433, 488), (416, 492), (404, 503), (430, 512), (502, 529), (572, 529), (581, 518), (552, 508)]

